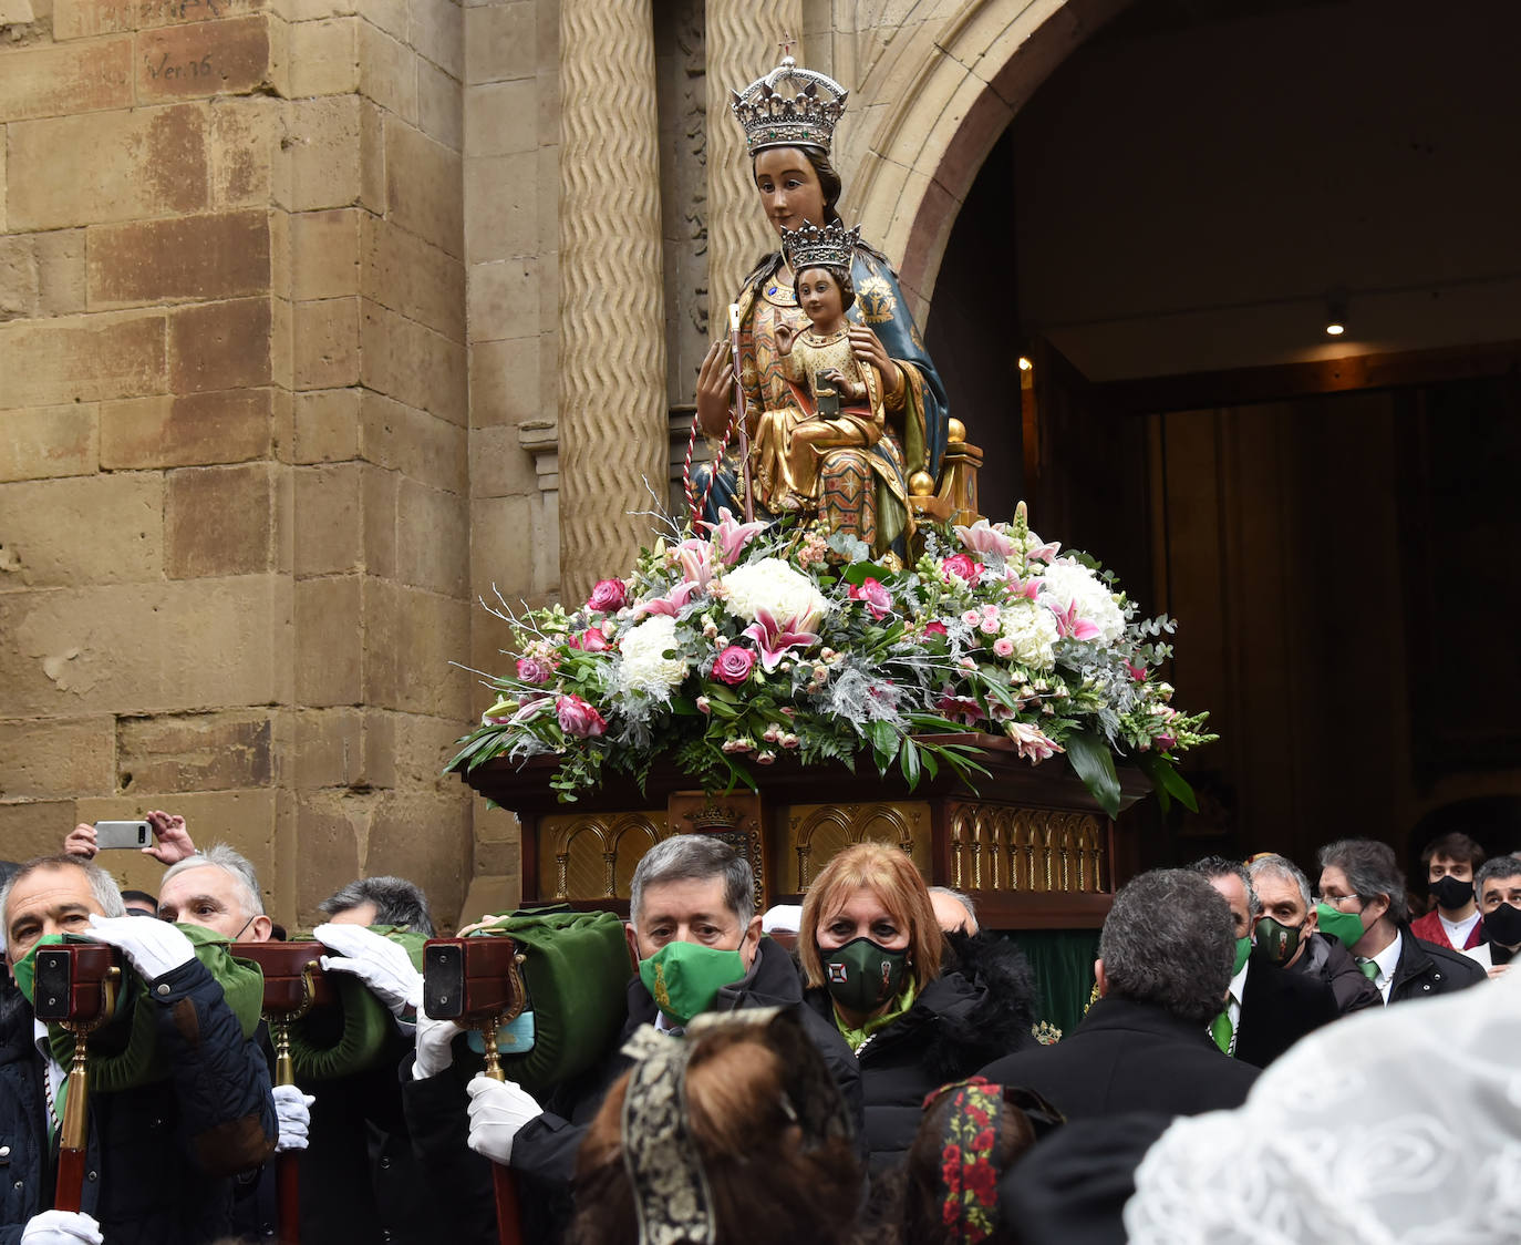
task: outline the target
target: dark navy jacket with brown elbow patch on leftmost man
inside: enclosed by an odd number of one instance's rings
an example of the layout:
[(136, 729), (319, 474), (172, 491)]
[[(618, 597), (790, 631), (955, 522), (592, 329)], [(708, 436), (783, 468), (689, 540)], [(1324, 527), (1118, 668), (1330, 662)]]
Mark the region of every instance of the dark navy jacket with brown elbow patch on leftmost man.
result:
[[(90, 1096), (84, 1210), (111, 1245), (205, 1245), (231, 1227), (231, 1177), (257, 1167), (277, 1137), (269, 1071), (243, 1040), (222, 988), (193, 960), (154, 980), (166, 1082)], [(53, 1204), (56, 1143), (47, 1135), (32, 1009), (0, 1023), (0, 1245)]]

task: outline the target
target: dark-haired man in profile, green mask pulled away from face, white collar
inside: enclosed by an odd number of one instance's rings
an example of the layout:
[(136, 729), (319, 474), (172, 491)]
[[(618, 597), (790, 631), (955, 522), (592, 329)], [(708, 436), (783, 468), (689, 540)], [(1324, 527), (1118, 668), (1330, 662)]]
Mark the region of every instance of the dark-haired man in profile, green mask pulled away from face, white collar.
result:
[(1405, 880), (1387, 843), (1338, 839), (1322, 848), (1316, 913), (1320, 930), (1342, 941), (1386, 1005), (1484, 980), (1484, 970), (1462, 951), (1410, 931)]

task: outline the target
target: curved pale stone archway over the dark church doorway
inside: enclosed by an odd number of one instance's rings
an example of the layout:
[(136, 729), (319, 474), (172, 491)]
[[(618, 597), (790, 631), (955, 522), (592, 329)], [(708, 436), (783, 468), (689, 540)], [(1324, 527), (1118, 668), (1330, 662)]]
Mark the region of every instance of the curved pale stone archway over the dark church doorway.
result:
[[(923, 324), (940, 259), (983, 161), (1046, 76), (1133, 0), (934, 0), (856, 67), (840, 151), (844, 215), (897, 260)], [(917, 6), (914, 6), (917, 8)]]

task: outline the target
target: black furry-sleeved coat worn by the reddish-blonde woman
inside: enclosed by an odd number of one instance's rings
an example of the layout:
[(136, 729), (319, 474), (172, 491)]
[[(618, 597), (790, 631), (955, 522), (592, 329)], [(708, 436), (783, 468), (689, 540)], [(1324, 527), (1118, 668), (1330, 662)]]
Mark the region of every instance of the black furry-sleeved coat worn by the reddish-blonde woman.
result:
[[(1024, 954), (992, 936), (949, 935), (946, 968), (914, 1005), (873, 1033), (853, 1056), (865, 1103), (872, 1175), (899, 1163), (914, 1142), (925, 1094), (961, 1081), (989, 1059), (1036, 1047), (1030, 1035), (1034, 982)], [(835, 1029), (834, 1000), (815, 986), (805, 994), (814, 1014)]]

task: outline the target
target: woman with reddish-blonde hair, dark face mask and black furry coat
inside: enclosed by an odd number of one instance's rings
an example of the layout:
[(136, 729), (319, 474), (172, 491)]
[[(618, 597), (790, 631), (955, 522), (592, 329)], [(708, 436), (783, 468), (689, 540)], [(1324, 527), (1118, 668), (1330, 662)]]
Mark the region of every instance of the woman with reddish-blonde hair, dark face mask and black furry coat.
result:
[[(840, 852), (809, 886), (800, 925), (803, 1001), (855, 1053), (878, 1175), (913, 1145), (925, 1094), (1033, 1043), (1028, 998), (967, 971), (897, 848)], [(955, 945), (967, 956), (980, 947), (964, 938)]]

